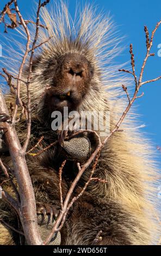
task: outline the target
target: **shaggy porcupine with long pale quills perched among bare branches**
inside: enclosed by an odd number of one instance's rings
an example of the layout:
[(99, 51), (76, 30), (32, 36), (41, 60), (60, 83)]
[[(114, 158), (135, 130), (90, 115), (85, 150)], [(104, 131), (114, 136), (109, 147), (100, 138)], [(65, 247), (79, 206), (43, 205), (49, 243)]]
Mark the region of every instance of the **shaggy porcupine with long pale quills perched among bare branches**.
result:
[[(37, 49), (33, 64), (30, 84), (32, 133), (28, 149), (42, 135), (44, 139), (35, 152), (57, 140), (57, 132), (51, 129), (51, 114), (55, 110), (69, 107), (69, 111), (78, 112), (109, 111), (110, 130), (122, 113), (123, 97), (119, 100), (117, 96), (121, 95), (118, 88), (125, 78), (116, 77), (117, 66), (112, 65), (119, 51), (113, 23), (94, 13), (94, 9), (85, 7), (79, 14), (79, 21), (75, 22), (63, 3), (53, 14), (45, 8), (42, 10), (42, 20), (48, 31), (41, 29), (40, 40), (48, 36), (51, 39)], [(23, 79), (27, 74), (26, 69)], [(14, 105), (14, 94), (10, 93), (5, 99), (8, 106), (10, 102)], [(23, 84), (21, 99), (27, 101)], [(91, 181), (83, 196), (73, 204), (60, 231), (62, 245), (91, 245), (94, 241), (97, 245), (148, 245), (153, 242), (155, 224), (150, 184), (156, 167), (147, 142), (135, 129), (127, 129), (133, 125), (133, 120), (127, 117), (123, 131), (114, 133), (104, 145), (94, 177), (107, 182)], [(21, 143), (25, 137), (24, 127), (22, 117), (16, 125)], [(58, 168), (65, 157), (67, 153), (57, 145), (37, 157), (27, 156), (39, 213), (42, 205), (47, 214), (49, 207), (53, 214), (60, 209)], [(9, 164), (6, 153), (2, 159)], [(86, 169), (79, 180), (75, 195), (89, 179), (91, 168)], [(76, 161), (67, 160), (62, 174), (63, 199), (77, 172)], [(4, 188), (13, 193), (8, 183)], [(17, 216), (11, 212), (3, 202), (1, 218), (18, 229)], [(100, 230), (102, 239), (95, 240)], [(1, 223), (0, 243), (18, 244), (19, 236)]]

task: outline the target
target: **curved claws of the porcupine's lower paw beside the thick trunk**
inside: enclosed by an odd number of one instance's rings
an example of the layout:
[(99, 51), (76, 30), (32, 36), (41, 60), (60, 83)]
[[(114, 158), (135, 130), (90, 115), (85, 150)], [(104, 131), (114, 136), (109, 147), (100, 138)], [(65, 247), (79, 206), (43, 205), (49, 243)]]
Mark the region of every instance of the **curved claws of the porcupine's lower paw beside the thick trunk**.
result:
[(53, 220), (53, 217), (57, 219), (59, 215), (59, 209), (57, 206), (46, 204), (44, 202), (36, 202), (37, 214), (43, 214), (44, 218), (49, 216), (49, 222)]

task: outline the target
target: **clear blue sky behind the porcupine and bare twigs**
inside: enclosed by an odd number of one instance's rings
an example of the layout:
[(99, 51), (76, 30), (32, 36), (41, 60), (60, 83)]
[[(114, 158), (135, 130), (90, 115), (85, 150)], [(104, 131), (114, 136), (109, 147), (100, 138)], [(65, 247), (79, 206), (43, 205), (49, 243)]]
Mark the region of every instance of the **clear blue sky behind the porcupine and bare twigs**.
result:
[[(35, 1), (32, 0), (19, 0), (22, 14), (26, 17), (31, 13), (32, 5)], [(52, 2), (53, 0), (51, 0)], [(0, 9), (3, 8), (7, 1), (1, 0)], [(79, 2), (79, 1), (77, 1)], [(80, 1), (84, 3), (85, 1)], [(27, 4), (26, 4), (27, 3)], [(147, 0), (95, 0), (88, 1), (98, 6), (98, 12), (103, 10), (104, 13), (109, 13), (113, 16), (113, 20), (119, 26), (118, 29), (121, 35), (126, 35), (124, 41), (125, 45), (133, 44), (135, 53), (135, 69), (139, 74), (140, 66), (145, 56), (145, 34), (144, 25), (146, 25), (149, 31), (152, 31), (156, 23), (161, 19), (161, 1), (147, 1)], [(74, 13), (76, 1), (69, 0), (69, 8), (71, 14)], [(0, 27), (0, 43), (3, 40), (4, 34), (3, 25)], [(9, 36), (9, 35), (5, 35)], [(156, 53), (155, 57), (152, 57), (146, 66), (144, 80), (156, 78), (161, 76), (161, 57), (157, 56), (157, 46), (161, 44), (161, 27), (158, 29), (156, 37), (154, 38), (153, 52)], [(124, 63), (129, 60), (128, 48), (118, 58), (118, 62)], [(146, 125), (144, 131), (148, 133), (148, 137), (152, 139), (154, 147), (161, 145), (161, 80), (151, 84), (147, 84), (143, 88), (144, 97), (138, 101), (138, 113), (140, 113), (140, 120)]]

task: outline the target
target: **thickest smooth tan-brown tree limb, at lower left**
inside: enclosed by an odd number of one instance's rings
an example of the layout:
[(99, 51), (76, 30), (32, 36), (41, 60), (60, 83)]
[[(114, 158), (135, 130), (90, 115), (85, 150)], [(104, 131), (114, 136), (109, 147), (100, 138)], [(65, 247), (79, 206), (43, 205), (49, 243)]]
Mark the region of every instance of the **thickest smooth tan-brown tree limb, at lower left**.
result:
[[(0, 102), (0, 112), (6, 113), (8, 115), (8, 109), (5, 105), (4, 97), (1, 92)], [(13, 161), (14, 173), (20, 193), (20, 208), (18, 208), (17, 202), (15, 202), (15, 200), (14, 208), (17, 209), (18, 215), (20, 216), (27, 243), (30, 245), (41, 245), (42, 240), (37, 224), (35, 196), (32, 181), (30, 180), (26, 164), (25, 155), (23, 154), (23, 150), (21, 148), (14, 126), (8, 124), (7, 122), (2, 123), (2, 126), (7, 129), (7, 132), (5, 132), (5, 138), (9, 147), (11, 159)], [(11, 205), (13, 205), (11, 198), (8, 198), (6, 194), (3, 194), (3, 198), (7, 200)]]

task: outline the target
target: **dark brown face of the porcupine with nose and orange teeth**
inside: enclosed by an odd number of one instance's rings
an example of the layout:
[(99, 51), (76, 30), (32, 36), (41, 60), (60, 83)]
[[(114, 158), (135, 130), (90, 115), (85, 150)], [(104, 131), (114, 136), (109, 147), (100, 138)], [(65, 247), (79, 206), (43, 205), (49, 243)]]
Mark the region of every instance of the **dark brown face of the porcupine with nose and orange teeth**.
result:
[(44, 78), (50, 79), (50, 88), (45, 95), (45, 108), (52, 111), (77, 109), (90, 87), (93, 70), (84, 56), (67, 53), (58, 59), (51, 59), (44, 71)]

